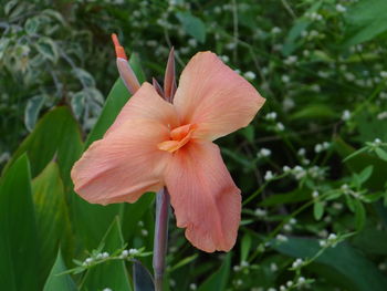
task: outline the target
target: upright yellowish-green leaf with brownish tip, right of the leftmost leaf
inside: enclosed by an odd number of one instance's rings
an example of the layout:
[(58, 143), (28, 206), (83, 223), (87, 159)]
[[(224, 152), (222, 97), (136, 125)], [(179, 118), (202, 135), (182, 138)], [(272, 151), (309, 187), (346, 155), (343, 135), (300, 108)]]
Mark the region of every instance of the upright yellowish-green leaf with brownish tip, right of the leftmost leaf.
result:
[(62, 239), (69, 252), (71, 231), (69, 211), (65, 202), (64, 187), (60, 170), (54, 162), (32, 181), (33, 201), (35, 206), (41, 256), (40, 274), (45, 278), (57, 256), (57, 247)]

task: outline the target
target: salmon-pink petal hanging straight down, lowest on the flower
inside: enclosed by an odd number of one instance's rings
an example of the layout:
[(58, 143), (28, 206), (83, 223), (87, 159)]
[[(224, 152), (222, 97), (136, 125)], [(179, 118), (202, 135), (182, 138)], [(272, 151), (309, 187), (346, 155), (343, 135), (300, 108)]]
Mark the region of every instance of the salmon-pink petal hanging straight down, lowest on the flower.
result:
[(207, 252), (229, 251), (236, 243), (241, 216), (240, 190), (210, 142), (190, 142), (168, 163), (165, 183), (177, 226)]

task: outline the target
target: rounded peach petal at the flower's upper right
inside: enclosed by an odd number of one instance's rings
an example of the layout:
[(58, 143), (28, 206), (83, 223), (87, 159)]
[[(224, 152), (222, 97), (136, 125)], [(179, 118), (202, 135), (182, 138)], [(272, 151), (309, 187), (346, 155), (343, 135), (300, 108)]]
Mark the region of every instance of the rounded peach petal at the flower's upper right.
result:
[(247, 126), (264, 98), (211, 52), (197, 53), (181, 73), (174, 104), (196, 137), (216, 139)]

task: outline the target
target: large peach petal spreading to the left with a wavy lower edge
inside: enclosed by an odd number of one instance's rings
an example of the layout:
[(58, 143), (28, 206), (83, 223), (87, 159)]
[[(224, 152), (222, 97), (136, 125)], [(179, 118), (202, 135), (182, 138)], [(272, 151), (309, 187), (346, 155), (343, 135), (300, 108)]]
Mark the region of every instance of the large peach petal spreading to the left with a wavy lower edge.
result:
[(134, 202), (157, 191), (170, 154), (157, 148), (169, 129), (155, 122), (128, 121), (93, 143), (75, 163), (71, 177), (75, 191), (92, 204)]

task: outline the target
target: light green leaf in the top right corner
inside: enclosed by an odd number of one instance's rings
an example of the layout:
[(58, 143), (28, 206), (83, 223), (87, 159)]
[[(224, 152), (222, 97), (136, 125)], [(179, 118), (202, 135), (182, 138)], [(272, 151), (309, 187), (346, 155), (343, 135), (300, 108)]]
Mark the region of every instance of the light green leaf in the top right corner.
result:
[(387, 1), (362, 0), (345, 14), (348, 23), (345, 46), (375, 39), (387, 31)]

